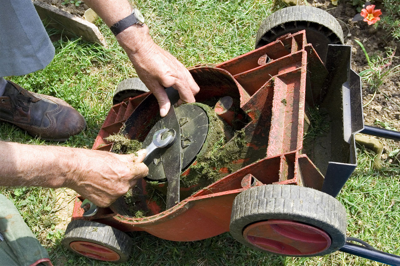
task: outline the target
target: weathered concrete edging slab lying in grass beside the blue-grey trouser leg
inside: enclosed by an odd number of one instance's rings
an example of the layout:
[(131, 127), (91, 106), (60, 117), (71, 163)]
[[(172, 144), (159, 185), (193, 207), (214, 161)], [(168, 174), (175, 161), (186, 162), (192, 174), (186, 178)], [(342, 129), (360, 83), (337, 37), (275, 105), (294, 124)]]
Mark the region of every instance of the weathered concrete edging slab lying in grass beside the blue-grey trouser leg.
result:
[(69, 37), (79, 36), (85, 41), (100, 43), (107, 47), (106, 40), (96, 25), (42, 1), (33, 1), (33, 4), (40, 18), (48, 19), (48, 26), (64, 30), (64, 34)]

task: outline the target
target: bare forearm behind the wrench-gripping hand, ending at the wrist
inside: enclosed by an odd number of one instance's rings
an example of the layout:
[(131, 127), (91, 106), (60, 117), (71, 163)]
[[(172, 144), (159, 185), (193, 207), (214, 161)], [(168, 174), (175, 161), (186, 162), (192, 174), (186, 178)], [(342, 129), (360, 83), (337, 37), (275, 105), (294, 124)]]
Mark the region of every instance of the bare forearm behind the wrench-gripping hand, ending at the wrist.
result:
[(73, 148), (0, 141), (0, 185), (68, 187), (74, 176)]

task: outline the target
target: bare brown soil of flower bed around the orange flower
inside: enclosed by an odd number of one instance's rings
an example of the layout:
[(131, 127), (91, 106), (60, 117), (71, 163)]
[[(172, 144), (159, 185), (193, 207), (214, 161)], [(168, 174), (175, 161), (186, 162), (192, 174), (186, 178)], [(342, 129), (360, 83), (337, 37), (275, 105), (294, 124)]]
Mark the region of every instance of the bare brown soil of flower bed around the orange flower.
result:
[[(399, 41), (396, 41), (390, 33), (385, 32), (381, 28), (376, 29), (374, 25), (369, 26), (364, 21), (353, 22), (352, 19), (358, 11), (357, 7), (353, 6), (351, 1), (339, 1), (338, 6), (332, 5), (330, 0), (314, 0), (309, 4), (326, 10), (339, 21), (344, 33), (344, 44), (352, 45), (351, 67), (356, 73), (360, 73), (370, 67), (368, 66), (364, 52), (355, 40), (360, 41), (364, 45), (370, 58), (374, 54), (385, 58), (387, 57), (386, 47), (395, 49), (395, 56), (391, 65), (385, 68), (386, 70), (400, 64), (400, 60), (396, 58), (399, 56)], [(374, 4), (376, 5), (376, 9), (382, 10), (384, 13), (382, 16), (384, 16), (385, 10), (383, 10), (382, 3), (374, 1)], [(384, 126), (388, 129), (400, 130), (400, 75), (387, 77), (383, 80), (382, 85), (378, 87), (375, 96), (374, 91), (368, 83), (363, 81), (362, 99), (363, 104), (367, 104), (363, 108), (364, 124), (381, 126), (384, 123)], [(396, 143), (393, 141), (385, 139), (381, 139), (381, 141), (384, 144), (384, 153), (396, 149), (393, 146)], [(383, 157), (385, 158), (385, 155)]]

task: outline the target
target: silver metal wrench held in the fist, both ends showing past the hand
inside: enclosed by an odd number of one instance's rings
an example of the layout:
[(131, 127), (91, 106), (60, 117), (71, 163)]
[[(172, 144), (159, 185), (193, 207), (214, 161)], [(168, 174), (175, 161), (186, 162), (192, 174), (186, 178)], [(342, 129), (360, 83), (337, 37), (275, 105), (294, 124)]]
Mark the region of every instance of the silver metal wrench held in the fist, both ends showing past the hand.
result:
[[(143, 162), (157, 148), (168, 148), (172, 144), (174, 144), (175, 134), (176, 134), (175, 130), (173, 129), (162, 128), (160, 130), (157, 130), (156, 133), (154, 133), (153, 135), (153, 141), (149, 144), (149, 146), (146, 147), (146, 157), (144, 157)], [(164, 135), (168, 136), (162, 138)], [(83, 213), (84, 217), (93, 216), (98, 211), (98, 207), (88, 199), (85, 199), (80, 205), (80, 207), (84, 210)]]

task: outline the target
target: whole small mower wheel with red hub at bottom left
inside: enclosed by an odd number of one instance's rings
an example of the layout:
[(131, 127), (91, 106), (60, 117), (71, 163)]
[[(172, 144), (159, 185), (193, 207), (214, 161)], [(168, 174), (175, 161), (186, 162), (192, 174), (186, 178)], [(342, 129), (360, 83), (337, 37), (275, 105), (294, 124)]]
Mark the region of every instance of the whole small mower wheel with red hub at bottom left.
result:
[(71, 221), (62, 244), (82, 256), (109, 262), (128, 260), (132, 239), (124, 232), (93, 221)]

